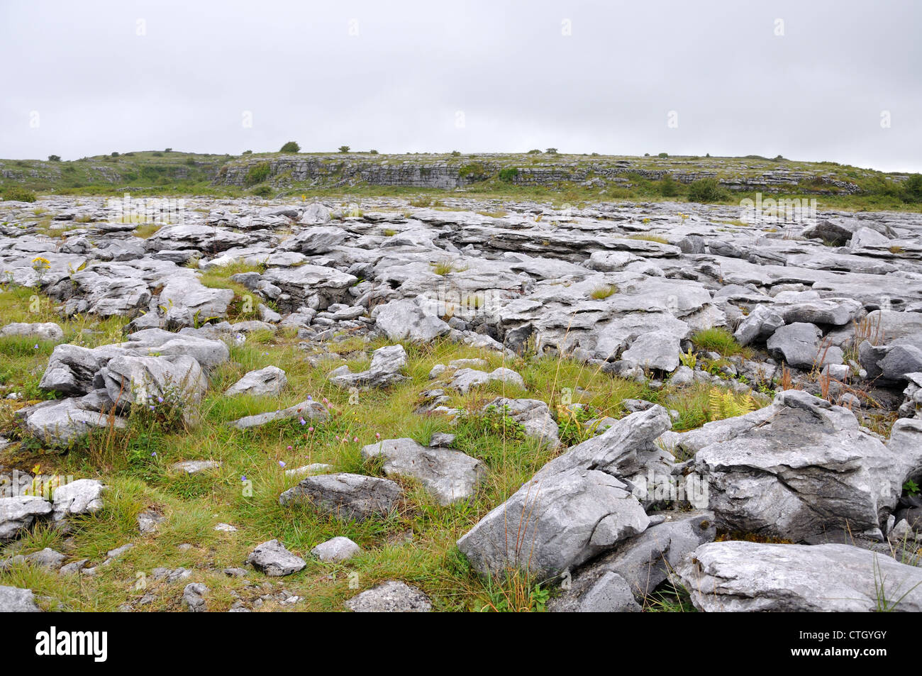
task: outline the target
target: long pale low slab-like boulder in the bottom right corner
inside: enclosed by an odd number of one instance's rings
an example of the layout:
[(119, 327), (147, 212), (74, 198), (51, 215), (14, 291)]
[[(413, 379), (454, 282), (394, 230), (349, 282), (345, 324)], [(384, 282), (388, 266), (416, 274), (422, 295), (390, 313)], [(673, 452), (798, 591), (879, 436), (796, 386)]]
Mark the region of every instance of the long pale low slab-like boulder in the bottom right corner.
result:
[(922, 611), (922, 569), (845, 544), (703, 544), (677, 568), (699, 611)]

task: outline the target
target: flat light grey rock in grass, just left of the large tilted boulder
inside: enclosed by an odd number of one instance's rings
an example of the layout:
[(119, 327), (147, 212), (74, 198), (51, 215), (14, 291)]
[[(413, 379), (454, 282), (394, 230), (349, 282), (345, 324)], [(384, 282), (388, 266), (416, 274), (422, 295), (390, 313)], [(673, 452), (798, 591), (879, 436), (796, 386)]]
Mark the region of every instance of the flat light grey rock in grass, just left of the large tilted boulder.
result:
[(419, 445), (407, 438), (366, 445), (361, 457), (383, 457), (385, 474), (420, 481), (439, 504), (470, 499), (487, 473), (476, 458), (447, 448)]

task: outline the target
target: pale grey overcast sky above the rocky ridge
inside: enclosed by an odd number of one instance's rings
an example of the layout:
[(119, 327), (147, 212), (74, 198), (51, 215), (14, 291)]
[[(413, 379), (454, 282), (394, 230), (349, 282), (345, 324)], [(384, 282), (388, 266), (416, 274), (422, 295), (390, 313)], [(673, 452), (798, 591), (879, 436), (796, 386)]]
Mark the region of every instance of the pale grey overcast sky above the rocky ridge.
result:
[(296, 140), (922, 172), (920, 35), (911, 0), (0, 0), (0, 157)]

